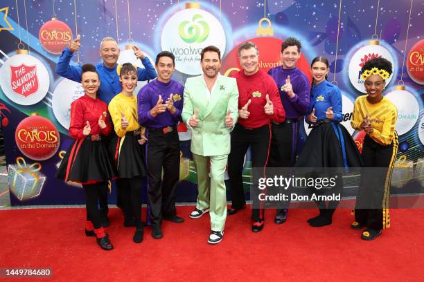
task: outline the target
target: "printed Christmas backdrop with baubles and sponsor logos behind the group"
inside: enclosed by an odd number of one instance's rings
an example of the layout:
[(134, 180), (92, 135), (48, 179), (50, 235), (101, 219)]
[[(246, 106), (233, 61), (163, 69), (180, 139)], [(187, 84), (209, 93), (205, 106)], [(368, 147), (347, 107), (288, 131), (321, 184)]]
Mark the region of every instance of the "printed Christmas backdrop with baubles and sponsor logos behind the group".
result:
[[(324, 55), (330, 60), (328, 77), (335, 80), (343, 95), (343, 124), (360, 149), (364, 135), (350, 126), (353, 102), (364, 93), (360, 68), (372, 57), (385, 57), (394, 64), (385, 94), (398, 108), (400, 150), (396, 166), (415, 171), (410, 175), (397, 173), (396, 179), (405, 182), (423, 173), (423, 1), (414, 1), (408, 37), (410, 1), (405, 0), (382, 1), (379, 7), (377, 0), (343, 1), (339, 30), (339, 1), (118, 0), (116, 7), (115, 1), (107, 0), (17, 2), (17, 7), (13, 0), (0, 4), (0, 115), (12, 205), (84, 201), (78, 184), (54, 178), (71, 144), (67, 132), (70, 104), (83, 95), (80, 84), (55, 75), (54, 69), (62, 49), (77, 34), (82, 47), (71, 64), (78, 64), (78, 58), (83, 63), (100, 62), (100, 41), (110, 36), (118, 38), (119, 63), (139, 64), (128, 44), (139, 46), (151, 60), (161, 50), (170, 50), (176, 56), (173, 79), (183, 84), (187, 77), (201, 73), (200, 51), (204, 46), (220, 48), (221, 73), (228, 75), (240, 68), (236, 49), (243, 41), (259, 46), (260, 68), (266, 71), (281, 64), (281, 42), (297, 37), (303, 44), (298, 66), (309, 78), (313, 57)], [(301, 144), (309, 131), (307, 124), (301, 126)], [(179, 124), (179, 137), (182, 181), (177, 201), (192, 202), (195, 171), (189, 151), (191, 134), (184, 124)], [(250, 172), (247, 153), (245, 191), (249, 191)], [(114, 200), (112, 187), (111, 203)]]

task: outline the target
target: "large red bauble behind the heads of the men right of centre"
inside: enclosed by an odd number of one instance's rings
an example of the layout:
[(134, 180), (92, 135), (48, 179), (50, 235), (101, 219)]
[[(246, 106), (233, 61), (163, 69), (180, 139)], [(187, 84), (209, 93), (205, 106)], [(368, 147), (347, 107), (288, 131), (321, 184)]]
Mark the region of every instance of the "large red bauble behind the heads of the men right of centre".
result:
[[(265, 72), (276, 66), (281, 66), (281, 44), (283, 40), (275, 37), (256, 37), (249, 39), (258, 46), (259, 50), (259, 68)], [(312, 75), (310, 74), (310, 66), (308, 60), (301, 53), (301, 57), (297, 61), (297, 68), (308, 77), (309, 82), (312, 82)], [(221, 73), (229, 75), (231, 71), (241, 70), (240, 62), (238, 59), (238, 46), (235, 46), (230, 53), (228, 53), (222, 60)]]

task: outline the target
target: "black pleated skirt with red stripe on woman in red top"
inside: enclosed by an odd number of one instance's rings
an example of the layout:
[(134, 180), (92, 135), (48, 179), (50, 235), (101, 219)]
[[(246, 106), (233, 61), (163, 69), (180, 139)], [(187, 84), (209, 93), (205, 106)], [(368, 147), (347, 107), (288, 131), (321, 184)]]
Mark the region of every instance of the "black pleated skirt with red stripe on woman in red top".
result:
[(78, 139), (65, 154), (56, 177), (65, 181), (92, 184), (116, 177), (103, 140)]

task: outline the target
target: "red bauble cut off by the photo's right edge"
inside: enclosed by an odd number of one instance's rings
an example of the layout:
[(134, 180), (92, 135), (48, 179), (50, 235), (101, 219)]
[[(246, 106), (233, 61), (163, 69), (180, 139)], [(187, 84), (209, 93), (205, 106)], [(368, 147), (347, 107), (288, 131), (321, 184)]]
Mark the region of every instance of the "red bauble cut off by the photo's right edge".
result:
[(409, 77), (418, 84), (424, 84), (424, 39), (418, 41), (407, 57), (407, 71)]

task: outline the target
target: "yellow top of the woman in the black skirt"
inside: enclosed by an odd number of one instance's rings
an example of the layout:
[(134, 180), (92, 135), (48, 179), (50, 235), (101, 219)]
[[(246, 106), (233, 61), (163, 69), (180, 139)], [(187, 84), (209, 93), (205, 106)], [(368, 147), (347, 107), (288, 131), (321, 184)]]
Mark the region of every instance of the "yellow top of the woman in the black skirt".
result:
[[(128, 121), (126, 129), (121, 128), (121, 112), (124, 113)], [(114, 122), (116, 135), (123, 137), (127, 131), (136, 131), (140, 128), (139, 118), (137, 115), (137, 98), (133, 95), (127, 97), (123, 93), (119, 93), (109, 102), (109, 113)]]

